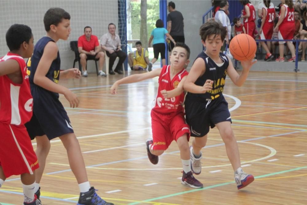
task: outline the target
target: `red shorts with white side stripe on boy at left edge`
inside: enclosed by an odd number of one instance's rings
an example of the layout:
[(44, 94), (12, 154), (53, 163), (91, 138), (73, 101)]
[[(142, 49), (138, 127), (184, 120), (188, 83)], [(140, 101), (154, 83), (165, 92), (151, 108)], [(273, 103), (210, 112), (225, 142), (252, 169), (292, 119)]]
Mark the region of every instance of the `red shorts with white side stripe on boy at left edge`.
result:
[(0, 166), (6, 178), (39, 168), (37, 156), (24, 125), (0, 122)]

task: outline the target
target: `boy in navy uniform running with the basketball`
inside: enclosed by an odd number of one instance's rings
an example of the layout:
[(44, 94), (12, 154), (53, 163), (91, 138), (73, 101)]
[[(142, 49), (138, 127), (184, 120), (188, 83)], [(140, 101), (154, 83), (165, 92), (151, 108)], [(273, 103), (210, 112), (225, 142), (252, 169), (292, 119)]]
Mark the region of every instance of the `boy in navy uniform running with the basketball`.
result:
[(200, 27), (201, 42), (206, 50), (197, 56), (184, 83), (184, 89), (188, 91), (185, 97), (185, 112), (191, 136), (195, 137), (190, 148), (192, 171), (200, 174), (200, 150), (206, 146), (209, 127), (216, 126), (235, 172), (235, 182), (238, 189), (241, 189), (251, 183), (254, 177), (247, 175), (241, 168), (238, 144), (231, 129), (228, 103), (222, 92), (226, 74), (235, 85), (241, 86), (255, 62), (242, 61), (243, 71), (239, 75), (230, 59), (220, 53), (226, 34), (226, 28), (217, 22), (210, 21)]

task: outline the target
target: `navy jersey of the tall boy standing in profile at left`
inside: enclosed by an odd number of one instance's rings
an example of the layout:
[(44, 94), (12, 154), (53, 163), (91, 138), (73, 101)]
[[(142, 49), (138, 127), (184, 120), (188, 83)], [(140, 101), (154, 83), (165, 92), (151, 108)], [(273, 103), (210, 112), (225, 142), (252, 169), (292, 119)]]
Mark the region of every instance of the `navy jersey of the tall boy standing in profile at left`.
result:
[[(44, 53), (45, 46), (47, 45), (49, 41), (54, 42), (52, 38), (48, 36), (44, 36), (40, 40), (38, 40), (34, 46), (33, 55), (31, 57), (31, 67), (30, 67), (30, 76), (29, 76), (31, 86), (35, 85), (33, 79), (34, 79), (34, 75), (37, 69), (37, 65), (39, 61), (41, 60), (41, 57), (43, 56), (43, 53)], [(52, 61), (49, 71), (46, 74), (46, 77), (48, 77), (51, 81), (55, 83), (59, 82), (60, 65), (61, 65), (61, 60), (60, 60), (60, 53), (58, 51), (56, 59)]]

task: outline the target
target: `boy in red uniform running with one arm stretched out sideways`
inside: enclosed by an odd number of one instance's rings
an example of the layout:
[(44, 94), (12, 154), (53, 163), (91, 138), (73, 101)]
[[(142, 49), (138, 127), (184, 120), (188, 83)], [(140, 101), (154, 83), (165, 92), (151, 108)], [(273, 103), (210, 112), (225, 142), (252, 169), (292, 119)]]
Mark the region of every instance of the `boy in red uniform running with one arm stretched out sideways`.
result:
[(154, 107), (151, 110), (153, 139), (146, 141), (147, 155), (152, 164), (158, 163), (158, 156), (175, 140), (178, 144), (183, 167), (182, 184), (192, 188), (201, 188), (203, 184), (194, 178), (188, 140), (190, 129), (185, 123), (183, 83), (188, 72), (190, 49), (184, 43), (177, 43), (169, 57), (171, 65), (154, 69), (149, 73), (135, 74), (116, 81), (111, 87), (111, 94), (117, 93), (120, 84), (143, 81), (159, 76), (159, 87)]

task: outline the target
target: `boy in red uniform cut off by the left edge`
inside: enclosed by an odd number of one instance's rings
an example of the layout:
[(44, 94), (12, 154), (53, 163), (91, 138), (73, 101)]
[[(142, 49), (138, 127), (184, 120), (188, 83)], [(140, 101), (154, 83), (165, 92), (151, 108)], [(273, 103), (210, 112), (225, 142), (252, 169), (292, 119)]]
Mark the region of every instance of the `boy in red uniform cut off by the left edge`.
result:
[(14, 24), (6, 32), (10, 52), (0, 58), (0, 187), (6, 178), (20, 175), (23, 204), (39, 205), (34, 194), (39, 165), (24, 125), (31, 119), (33, 106), (24, 58), (31, 57), (33, 42), (29, 26)]

